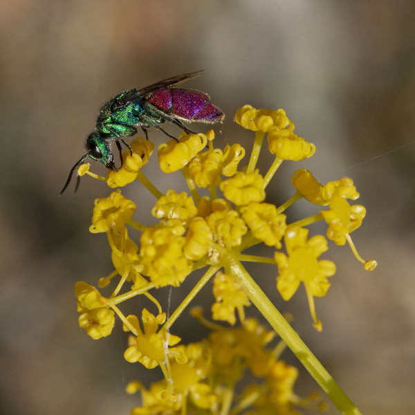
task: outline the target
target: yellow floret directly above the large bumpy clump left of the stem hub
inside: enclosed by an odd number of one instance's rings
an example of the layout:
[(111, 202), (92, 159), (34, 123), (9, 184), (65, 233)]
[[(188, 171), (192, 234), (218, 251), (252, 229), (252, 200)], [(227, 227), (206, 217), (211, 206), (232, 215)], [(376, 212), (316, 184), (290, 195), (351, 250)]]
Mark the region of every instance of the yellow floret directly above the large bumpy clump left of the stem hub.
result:
[(151, 214), (157, 219), (180, 219), (187, 222), (196, 216), (197, 209), (192, 197), (185, 192), (178, 194), (174, 190), (167, 190), (165, 196), (156, 201)]

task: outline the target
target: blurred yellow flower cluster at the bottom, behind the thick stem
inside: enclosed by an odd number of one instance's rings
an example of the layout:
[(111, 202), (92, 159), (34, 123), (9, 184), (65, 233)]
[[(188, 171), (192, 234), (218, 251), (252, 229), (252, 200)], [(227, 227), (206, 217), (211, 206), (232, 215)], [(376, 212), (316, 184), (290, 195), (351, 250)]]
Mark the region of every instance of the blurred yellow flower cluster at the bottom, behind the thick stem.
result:
[[(237, 384), (244, 388), (233, 413), (299, 414), (297, 405), (310, 407), (311, 400), (294, 393), (298, 371), (279, 360), (279, 344), (269, 347), (274, 337), (275, 333), (256, 320), (247, 319), (239, 329), (216, 328), (203, 342), (178, 346), (183, 359), (171, 358), (170, 362), (174, 393), (167, 392), (167, 380), (152, 383), (148, 389), (133, 380), (127, 392), (140, 391), (142, 407), (134, 408), (131, 414), (178, 415), (184, 410), (189, 414), (228, 414), (232, 400), (224, 385)], [(247, 371), (263, 382), (243, 385)]]

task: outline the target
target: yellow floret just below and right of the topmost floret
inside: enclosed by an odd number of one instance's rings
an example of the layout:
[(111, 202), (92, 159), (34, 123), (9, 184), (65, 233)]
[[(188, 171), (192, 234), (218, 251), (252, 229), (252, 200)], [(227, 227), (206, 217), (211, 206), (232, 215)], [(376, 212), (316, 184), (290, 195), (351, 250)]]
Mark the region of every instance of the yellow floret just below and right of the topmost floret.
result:
[(273, 127), (268, 133), (268, 149), (283, 160), (304, 160), (313, 156), (315, 145), (288, 129)]

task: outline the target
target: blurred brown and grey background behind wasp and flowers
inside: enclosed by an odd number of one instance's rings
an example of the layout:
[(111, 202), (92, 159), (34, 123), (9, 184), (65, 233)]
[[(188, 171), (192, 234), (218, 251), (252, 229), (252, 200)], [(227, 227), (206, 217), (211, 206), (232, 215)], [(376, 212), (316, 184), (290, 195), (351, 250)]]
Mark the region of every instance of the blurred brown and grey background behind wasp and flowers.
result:
[[(355, 181), (367, 218), (353, 241), (379, 266), (367, 273), (347, 246), (330, 243), (323, 257), (338, 272), (316, 299), (322, 333), (311, 326), (304, 289), (284, 302), (276, 270), (258, 281), (295, 315), (297, 331), (363, 414), (415, 413), (412, 0), (14, 0), (1, 2), (0, 21), (1, 414), (128, 414), (139, 401), (125, 394), (127, 382), (160, 377), (123, 360), (120, 324), (98, 341), (77, 324), (75, 282), (96, 285), (113, 269), (106, 237), (88, 231), (93, 200), (109, 188), (83, 178), (76, 194), (74, 183), (57, 194), (104, 101), (199, 69), (203, 77), (185, 87), (208, 92), (225, 112), (215, 127), (223, 146), (249, 148), (252, 133), (233, 121), (247, 103), (284, 108), (299, 136), (315, 143), (313, 158), (282, 165), (268, 201), (293, 194), (289, 179), (300, 167), (322, 183)], [(145, 174), (157, 180), (152, 161)], [(163, 178), (160, 190), (175, 181), (179, 174)], [(147, 191), (130, 185), (122, 193), (139, 201), (140, 221), (151, 220)], [(317, 212), (298, 205), (287, 212), (292, 220)], [(163, 304), (168, 295), (160, 293)], [(172, 302), (183, 297), (172, 290)], [(196, 326), (183, 319), (172, 331), (195, 341)], [(290, 351), (284, 358), (295, 363)], [(319, 388), (302, 370), (297, 391), (312, 390)]]

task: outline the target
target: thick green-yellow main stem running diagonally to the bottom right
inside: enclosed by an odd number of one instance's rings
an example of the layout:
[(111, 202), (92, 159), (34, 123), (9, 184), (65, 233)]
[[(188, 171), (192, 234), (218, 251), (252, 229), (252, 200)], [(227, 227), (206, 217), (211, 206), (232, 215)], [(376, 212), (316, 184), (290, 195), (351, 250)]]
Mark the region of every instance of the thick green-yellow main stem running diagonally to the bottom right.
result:
[(273, 326), (273, 329), (286, 342), (287, 346), (297, 356), (298, 360), (302, 362), (302, 365), (304, 365), (315, 381), (322, 387), (324, 392), (326, 392), (327, 396), (329, 396), (339, 411), (344, 415), (361, 415), (359, 409), (344, 394), (344, 391), (340, 389), (322, 364), (311, 353), (310, 349), (299, 338), (299, 335), (295, 333), (273, 303), (270, 302), (270, 299), (259, 288), (241, 263), (234, 261), (232, 262), (231, 268), (234, 275), (239, 277), (239, 282), (243, 285), (251, 302), (255, 304), (270, 325)]

